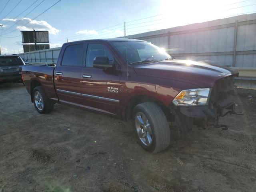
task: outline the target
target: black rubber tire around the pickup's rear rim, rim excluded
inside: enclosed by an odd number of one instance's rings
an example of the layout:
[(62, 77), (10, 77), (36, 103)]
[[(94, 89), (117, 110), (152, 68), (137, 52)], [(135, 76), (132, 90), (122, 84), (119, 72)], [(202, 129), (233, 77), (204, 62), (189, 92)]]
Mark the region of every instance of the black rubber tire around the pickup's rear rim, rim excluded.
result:
[[(42, 109), (40, 110), (37, 105), (36, 105), (36, 101), (35, 101), (35, 94), (36, 92), (39, 92), (42, 96), (42, 100), (43, 100), (43, 107)], [(32, 98), (33, 98), (33, 103), (34, 103), (34, 106), (36, 108), (36, 110), (41, 113), (41, 114), (47, 114), (47, 113), (50, 113), (52, 112), (53, 110), (53, 107), (54, 107), (54, 102), (52, 102), (45, 94), (44, 90), (42, 89), (42, 86), (37, 86), (34, 88), (33, 90), (33, 95), (32, 95)]]

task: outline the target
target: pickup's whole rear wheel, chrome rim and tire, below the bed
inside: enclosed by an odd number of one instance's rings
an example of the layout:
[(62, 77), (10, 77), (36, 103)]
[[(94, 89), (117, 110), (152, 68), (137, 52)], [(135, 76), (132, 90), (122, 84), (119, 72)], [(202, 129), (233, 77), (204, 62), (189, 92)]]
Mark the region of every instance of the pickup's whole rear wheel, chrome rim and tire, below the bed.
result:
[(42, 86), (34, 88), (33, 102), (36, 110), (41, 114), (50, 113), (54, 107), (54, 103), (46, 96)]

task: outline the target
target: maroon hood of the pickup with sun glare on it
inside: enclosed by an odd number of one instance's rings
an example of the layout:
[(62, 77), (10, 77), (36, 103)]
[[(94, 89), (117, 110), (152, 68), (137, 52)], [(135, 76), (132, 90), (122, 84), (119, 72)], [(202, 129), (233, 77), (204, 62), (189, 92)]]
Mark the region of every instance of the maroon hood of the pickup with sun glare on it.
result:
[(226, 76), (238, 76), (238, 72), (230, 68), (176, 59), (134, 66), (134, 70), (141, 76), (182, 81), (201, 88), (212, 88), (216, 80)]

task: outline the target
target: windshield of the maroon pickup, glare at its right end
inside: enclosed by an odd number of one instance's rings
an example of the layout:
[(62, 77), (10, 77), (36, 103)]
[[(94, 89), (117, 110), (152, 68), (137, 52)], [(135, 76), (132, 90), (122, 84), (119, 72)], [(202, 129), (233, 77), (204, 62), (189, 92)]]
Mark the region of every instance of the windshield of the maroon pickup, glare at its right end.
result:
[(122, 54), (129, 65), (173, 59), (164, 49), (150, 42), (120, 41), (112, 45)]

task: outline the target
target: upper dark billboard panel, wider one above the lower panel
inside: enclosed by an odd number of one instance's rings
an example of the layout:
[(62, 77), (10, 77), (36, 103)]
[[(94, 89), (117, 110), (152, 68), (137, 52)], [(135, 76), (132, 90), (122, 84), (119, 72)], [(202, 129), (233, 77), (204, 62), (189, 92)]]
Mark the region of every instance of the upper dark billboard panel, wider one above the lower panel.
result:
[(48, 31), (22, 31), (21, 34), (22, 43), (49, 43)]

